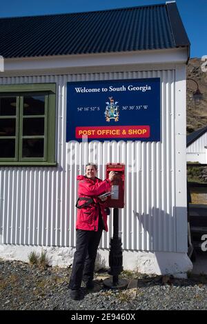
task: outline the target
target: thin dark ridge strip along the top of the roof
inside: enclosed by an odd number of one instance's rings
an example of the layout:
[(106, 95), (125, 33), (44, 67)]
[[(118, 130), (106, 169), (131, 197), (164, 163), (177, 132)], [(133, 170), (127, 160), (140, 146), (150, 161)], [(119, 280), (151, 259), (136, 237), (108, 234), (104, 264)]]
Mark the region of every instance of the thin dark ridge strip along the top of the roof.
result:
[(153, 5), (144, 5), (144, 6), (133, 6), (133, 7), (123, 7), (123, 8), (110, 8), (103, 10), (91, 10), (91, 11), (78, 11), (78, 12), (59, 12), (57, 14), (36, 14), (30, 16), (14, 16), (14, 17), (0, 17), (0, 19), (17, 19), (17, 18), (32, 18), (32, 17), (51, 17), (51, 16), (63, 16), (67, 14), (89, 14), (92, 12), (106, 12), (106, 11), (115, 11), (115, 10), (130, 10), (137, 8), (146, 8), (146, 7), (158, 7), (158, 6), (166, 6), (165, 3), (156, 3)]

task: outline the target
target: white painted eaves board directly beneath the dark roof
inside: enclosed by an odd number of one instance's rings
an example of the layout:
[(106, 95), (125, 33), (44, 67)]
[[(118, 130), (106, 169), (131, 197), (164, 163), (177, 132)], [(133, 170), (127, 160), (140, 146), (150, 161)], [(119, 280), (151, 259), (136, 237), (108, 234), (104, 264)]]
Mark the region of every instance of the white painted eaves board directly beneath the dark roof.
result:
[[(42, 73), (55, 74), (59, 72), (66, 74), (68, 72), (89, 72), (88, 69), (110, 68), (115, 71), (115, 67), (130, 65), (148, 65), (150, 70), (155, 65), (164, 66), (168, 64), (186, 63), (188, 59), (187, 48), (176, 48), (170, 50), (142, 50), (134, 52), (116, 52), (105, 54), (81, 54), (81, 55), (62, 55), (54, 57), (32, 57), (32, 58), (18, 58), (5, 59), (4, 72), (0, 72), (0, 77), (9, 76), (18, 72), (19, 75), (25, 75), (27, 72), (37, 75), (37, 71)], [(169, 67), (166, 66), (165, 70)], [(143, 70), (143, 66), (142, 66)], [(157, 69), (156, 69), (157, 70)], [(92, 70), (91, 70), (92, 72)], [(101, 72), (101, 71), (100, 71)], [(109, 71), (110, 72), (110, 71)]]

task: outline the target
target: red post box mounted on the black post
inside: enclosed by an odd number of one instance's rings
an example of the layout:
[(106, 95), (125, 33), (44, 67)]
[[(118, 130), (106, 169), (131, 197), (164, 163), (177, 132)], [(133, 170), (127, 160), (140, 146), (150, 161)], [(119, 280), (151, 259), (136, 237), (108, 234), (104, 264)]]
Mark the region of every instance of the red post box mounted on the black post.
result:
[(108, 199), (108, 207), (124, 208), (124, 171), (125, 165), (122, 163), (107, 163), (106, 179), (110, 171), (116, 172), (115, 180), (111, 186), (111, 196)]

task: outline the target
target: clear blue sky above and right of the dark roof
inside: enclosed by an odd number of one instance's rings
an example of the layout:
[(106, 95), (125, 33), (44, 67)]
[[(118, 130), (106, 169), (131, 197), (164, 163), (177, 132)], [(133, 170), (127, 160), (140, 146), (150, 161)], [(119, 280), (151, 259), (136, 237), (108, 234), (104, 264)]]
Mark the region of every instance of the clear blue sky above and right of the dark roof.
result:
[[(164, 0), (6, 0), (1, 1), (0, 17), (106, 10), (165, 2)], [(207, 55), (207, 0), (176, 2), (190, 39), (190, 57)]]

